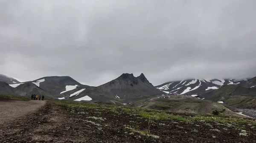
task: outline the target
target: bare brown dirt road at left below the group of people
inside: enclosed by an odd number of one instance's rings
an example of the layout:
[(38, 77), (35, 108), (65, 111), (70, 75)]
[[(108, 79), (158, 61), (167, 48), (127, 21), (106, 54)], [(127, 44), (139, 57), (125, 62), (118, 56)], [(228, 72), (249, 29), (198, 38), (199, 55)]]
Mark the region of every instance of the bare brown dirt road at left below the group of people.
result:
[(0, 124), (14, 121), (15, 119), (36, 112), (44, 106), (46, 101), (0, 101)]

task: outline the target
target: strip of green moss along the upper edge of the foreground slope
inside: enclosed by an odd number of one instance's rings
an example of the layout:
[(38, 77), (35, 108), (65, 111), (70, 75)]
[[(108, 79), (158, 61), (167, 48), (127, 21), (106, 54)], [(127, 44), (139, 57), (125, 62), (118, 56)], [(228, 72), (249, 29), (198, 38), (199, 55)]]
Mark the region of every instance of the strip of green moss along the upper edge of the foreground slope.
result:
[[(247, 120), (244, 118), (236, 118), (225, 115), (196, 115), (196, 114), (187, 114), (182, 115), (182, 113), (161, 111), (156, 109), (146, 109), (146, 108), (136, 108), (136, 107), (118, 107), (115, 105), (102, 105), (95, 103), (87, 102), (78, 102), (78, 101), (63, 101), (63, 100), (50, 100), (52, 103), (67, 106), (67, 108), (72, 110), (73, 107), (81, 108), (97, 108), (97, 109), (107, 109), (111, 110), (116, 114), (121, 112), (138, 114), (142, 118), (152, 119), (152, 120), (177, 120), (185, 122), (194, 122), (194, 121), (209, 121), (209, 122), (220, 122), (220, 123), (250, 123), (256, 125), (256, 122), (253, 120)], [(202, 105), (203, 106), (203, 105)], [(179, 115), (181, 114), (181, 115)]]

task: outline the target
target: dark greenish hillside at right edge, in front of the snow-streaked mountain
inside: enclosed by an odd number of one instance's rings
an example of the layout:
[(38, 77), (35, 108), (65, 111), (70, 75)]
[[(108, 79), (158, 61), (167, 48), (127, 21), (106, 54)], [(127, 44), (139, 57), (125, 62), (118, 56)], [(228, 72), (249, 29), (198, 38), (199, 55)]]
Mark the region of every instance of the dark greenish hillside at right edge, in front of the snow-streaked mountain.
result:
[(205, 98), (205, 100), (223, 101), (231, 107), (256, 109), (256, 88), (225, 85), (218, 90), (199, 95), (198, 97)]

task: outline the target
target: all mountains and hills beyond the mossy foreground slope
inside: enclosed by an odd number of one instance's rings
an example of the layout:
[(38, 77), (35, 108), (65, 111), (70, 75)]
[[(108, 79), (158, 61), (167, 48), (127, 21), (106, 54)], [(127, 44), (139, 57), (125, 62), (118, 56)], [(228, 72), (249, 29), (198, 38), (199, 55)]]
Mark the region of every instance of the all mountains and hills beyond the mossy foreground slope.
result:
[[(48, 76), (16, 84), (0, 81), (0, 94), (27, 97), (37, 94), (44, 95), (46, 99), (89, 101), (195, 114), (212, 114), (217, 110), (222, 115), (239, 116), (236, 112), (240, 111), (244, 115), (256, 117), (255, 83), (255, 78), (244, 81), (189, 79), (154, 87), (143, 73), (138, 77), (132, 73), (123, 73), (112, 81), (91, 87), (80, 84), (70, 76)], [(161, 95), (172, 98), (156, 98)]]

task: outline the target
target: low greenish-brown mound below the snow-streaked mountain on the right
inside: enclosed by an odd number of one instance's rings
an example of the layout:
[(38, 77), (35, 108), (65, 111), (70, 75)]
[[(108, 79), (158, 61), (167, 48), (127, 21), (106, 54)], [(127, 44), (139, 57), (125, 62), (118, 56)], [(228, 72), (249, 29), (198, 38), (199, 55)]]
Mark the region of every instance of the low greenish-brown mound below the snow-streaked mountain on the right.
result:
[(228, 107), (225, 104), (208, 100), (201, 100), (191, 96), (181, 98), (172, 97), (145, 99), (136, 101), (132, 103), (131, 106), (195, 114), (212, 114), (213, 111), (217, 110), (222, 115), (234, 115), (242, 117), (242, 115), (238, 115), (237, 113), (233, 112), (236, 111), (236, 109)]

